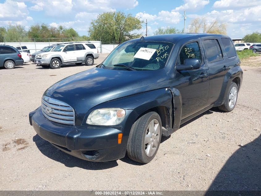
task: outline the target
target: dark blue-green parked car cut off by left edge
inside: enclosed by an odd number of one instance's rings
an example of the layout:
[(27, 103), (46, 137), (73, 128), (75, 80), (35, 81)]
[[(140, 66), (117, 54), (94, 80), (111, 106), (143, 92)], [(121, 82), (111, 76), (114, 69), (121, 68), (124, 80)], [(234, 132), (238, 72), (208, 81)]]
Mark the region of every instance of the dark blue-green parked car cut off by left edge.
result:
[(0, 67), (13, 69), (17, 65), (23, 65), (21, 53), (13, 46), (0, 45)]

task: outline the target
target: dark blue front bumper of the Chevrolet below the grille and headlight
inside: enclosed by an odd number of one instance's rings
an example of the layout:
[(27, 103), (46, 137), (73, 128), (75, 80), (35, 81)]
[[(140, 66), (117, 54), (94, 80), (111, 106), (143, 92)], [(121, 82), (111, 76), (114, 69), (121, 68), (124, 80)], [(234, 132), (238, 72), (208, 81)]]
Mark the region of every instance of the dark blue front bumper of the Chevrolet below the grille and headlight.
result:
[(122, 132), (116, 128), (56, 123), (44, 117), (41, 107), (29, 113), (29, 121), (44, 140), (80, 159), (111, 161), (125, 156), (127, 144), (118, 144)]

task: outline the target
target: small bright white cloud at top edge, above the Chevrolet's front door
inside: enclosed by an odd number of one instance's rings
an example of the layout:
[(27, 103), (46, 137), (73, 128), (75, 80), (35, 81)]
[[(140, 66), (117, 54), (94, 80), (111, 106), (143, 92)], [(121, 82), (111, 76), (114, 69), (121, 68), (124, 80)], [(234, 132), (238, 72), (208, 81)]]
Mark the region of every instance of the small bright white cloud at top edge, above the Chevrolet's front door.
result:
[(183, 0), (185, 4), (176, 7), (173, 11), (198, 11), (209, 3), (209, 0)]

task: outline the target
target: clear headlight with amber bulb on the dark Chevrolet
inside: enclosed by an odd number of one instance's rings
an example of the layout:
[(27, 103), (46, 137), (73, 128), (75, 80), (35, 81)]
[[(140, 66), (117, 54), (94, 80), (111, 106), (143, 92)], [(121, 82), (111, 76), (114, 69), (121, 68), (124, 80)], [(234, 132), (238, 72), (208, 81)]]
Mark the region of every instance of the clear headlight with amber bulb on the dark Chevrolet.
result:
[(102, 108), (91, 112), (86, 123), (95, 125), (120, 124), (125, 117), (125, 110), (121, 108)]

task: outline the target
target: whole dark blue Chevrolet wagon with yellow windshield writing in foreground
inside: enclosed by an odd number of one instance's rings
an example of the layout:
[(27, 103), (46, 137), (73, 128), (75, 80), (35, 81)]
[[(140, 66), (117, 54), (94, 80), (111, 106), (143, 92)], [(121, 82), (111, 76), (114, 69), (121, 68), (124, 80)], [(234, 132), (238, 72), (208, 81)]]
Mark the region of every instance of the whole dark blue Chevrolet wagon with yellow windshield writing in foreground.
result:
[(40, 137), (75, 157), (111, 161), (127, 152), (149, 163), (161, 137), (181, 124), (212, 107), (232, 111), (242, 78), (228, 36), (141, 37), (52, 85), (29, 121)]

